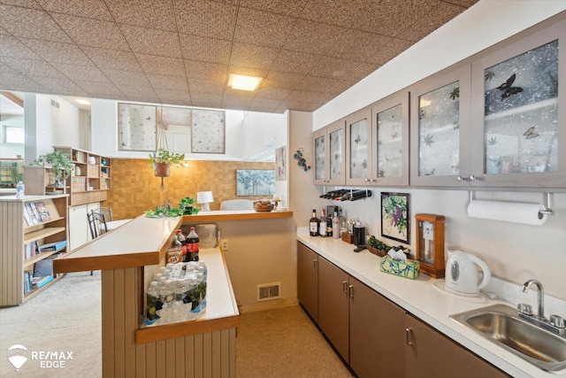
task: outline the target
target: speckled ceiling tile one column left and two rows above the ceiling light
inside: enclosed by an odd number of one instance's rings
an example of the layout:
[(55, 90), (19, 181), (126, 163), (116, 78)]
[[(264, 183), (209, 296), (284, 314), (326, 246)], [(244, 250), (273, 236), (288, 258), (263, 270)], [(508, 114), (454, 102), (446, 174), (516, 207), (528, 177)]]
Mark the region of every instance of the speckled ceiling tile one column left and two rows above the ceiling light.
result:
[(180, 33), (232, 40), (237, 6), (210, 0), (176, 1), (173, 4)]

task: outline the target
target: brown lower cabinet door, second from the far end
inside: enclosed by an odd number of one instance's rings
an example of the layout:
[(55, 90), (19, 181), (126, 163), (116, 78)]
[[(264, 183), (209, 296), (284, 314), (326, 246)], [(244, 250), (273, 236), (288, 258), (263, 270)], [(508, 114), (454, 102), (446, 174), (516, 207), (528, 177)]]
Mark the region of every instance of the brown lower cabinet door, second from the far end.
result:
[(349, 362), (348, 274), (318, 257), (318, 327)]

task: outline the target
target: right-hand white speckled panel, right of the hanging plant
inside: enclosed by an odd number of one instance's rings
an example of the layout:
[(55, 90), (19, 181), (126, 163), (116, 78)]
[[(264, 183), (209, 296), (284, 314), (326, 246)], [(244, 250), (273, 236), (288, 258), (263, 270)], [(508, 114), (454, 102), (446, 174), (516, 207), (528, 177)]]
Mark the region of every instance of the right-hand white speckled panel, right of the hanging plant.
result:
[(225, 153), (226, 118), (223, 111), (193, 110), (191, 152)]

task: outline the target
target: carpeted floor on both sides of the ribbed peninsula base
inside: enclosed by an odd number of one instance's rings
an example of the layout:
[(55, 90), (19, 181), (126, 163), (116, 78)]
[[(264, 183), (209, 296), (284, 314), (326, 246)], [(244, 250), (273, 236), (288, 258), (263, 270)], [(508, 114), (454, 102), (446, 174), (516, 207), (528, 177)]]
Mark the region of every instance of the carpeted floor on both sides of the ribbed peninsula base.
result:
[[(102, 375), (100, 271), (67, 274), (25, 305), (0, 309), (1, 377), (83, 377)], [(12, 345), (27, 348), (16, 371), (8, 359)], [(33, 352), (72, 352), (63, 367), (41, 366)], [(56, 359), (62, 361), (63, 359)], [(236, 339), (236, 376), (351, 377), (298, 305), (241, 314)]]

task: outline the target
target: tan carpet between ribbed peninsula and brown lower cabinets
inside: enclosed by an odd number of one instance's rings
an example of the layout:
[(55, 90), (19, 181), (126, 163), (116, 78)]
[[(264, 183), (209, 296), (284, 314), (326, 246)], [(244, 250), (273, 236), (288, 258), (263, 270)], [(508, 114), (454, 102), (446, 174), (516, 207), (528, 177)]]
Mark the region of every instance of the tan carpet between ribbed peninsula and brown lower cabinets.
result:
[(351, 377), (298, 305), (241, 314), (236, 377)]

